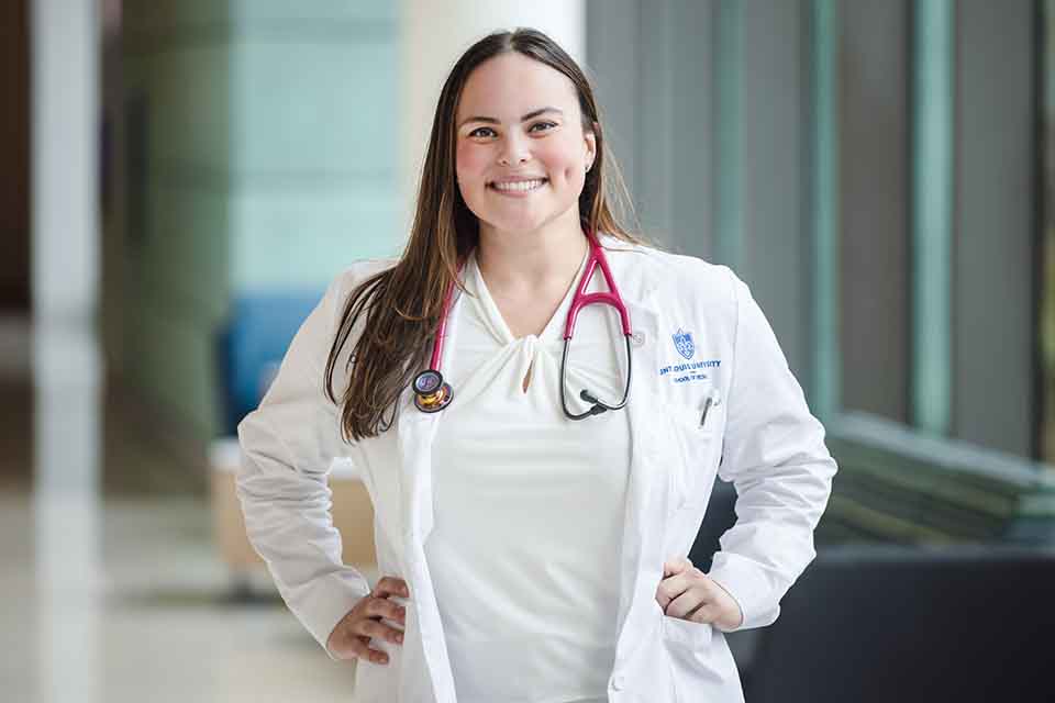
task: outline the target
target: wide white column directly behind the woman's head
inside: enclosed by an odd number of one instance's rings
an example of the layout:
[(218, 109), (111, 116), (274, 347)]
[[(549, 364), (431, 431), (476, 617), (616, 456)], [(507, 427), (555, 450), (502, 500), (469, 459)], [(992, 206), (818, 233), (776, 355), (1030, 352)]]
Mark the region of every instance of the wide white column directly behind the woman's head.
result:
[(403, 0), (401, 18), (399, 182), (402, 241), (413, 221), (418, 179), (443, 81), (458, 56), (496, 30), (530, 26), (545, 32), (586, 63), (585, 0)]

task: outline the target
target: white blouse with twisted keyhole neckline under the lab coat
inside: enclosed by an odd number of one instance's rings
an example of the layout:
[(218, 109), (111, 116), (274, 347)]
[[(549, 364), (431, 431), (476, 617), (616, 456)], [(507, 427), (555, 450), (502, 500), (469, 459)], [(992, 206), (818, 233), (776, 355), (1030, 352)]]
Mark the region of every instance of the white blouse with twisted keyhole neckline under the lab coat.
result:
[[(463, 703), (608, 700), (630, 438), (623, 411), (570, 421), (560, 406), (565, 319), (584, 265), (542, 334), (514, 338), (475, 254), (466, 263), (425, 543)], [(607, 290), (599, 268), (588, 290)], [(621, 398), (624, 354), (614, 310), (584, 309), (568, 368), (574, 411), (587, 409), (582, 388)]]

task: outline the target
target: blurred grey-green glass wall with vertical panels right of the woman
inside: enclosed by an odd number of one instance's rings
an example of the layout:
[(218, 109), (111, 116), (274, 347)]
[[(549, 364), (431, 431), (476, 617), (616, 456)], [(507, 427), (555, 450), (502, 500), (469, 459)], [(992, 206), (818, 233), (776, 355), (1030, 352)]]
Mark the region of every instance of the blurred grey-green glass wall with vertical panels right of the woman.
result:
[(736, 270), (825, 421), (843, 468), (828, 537), (1019, 535), (1051, 490), (1041, 5), (590, 10), (645, 234)]

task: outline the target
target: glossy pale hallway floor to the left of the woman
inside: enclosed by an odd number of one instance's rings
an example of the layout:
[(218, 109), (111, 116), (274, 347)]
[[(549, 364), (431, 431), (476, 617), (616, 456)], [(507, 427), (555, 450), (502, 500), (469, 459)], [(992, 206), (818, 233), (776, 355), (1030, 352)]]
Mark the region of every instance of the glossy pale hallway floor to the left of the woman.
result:
[[(18, 334), (0, 325), (0, 348), (24, 349)], [(74, 357), (62, 357), (64, 378), (79, 378), (66, 376)], [(152, 451), (112, 393), (97, 403), (106, 422), (80, 416), (107, 395), (90, 387), (57, 389), (58, 416), (34, 417), (48, 403), (12, 358), (0, 364), (0, 701), (302, 703), (351, 692), (354, 666), (331, 661), (274, 594), (230, 602), (200, 467)]]

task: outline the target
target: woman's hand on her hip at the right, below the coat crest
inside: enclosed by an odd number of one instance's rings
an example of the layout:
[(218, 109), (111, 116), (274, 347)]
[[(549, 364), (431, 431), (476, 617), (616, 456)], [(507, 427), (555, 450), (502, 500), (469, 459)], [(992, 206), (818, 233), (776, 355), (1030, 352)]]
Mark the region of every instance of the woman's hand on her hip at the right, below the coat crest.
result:
[(710, 623), (723, 632), (736, 629), (743, 613), (729, 591), (692, 566), (686, 558), (663, 565), (663, 580), (656, 601), (671, 617), (693, 623)]

